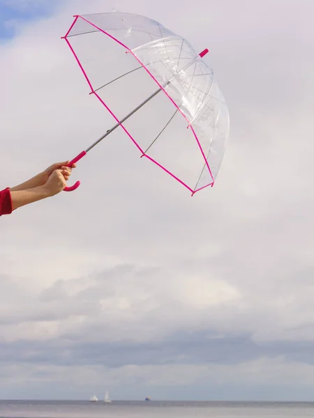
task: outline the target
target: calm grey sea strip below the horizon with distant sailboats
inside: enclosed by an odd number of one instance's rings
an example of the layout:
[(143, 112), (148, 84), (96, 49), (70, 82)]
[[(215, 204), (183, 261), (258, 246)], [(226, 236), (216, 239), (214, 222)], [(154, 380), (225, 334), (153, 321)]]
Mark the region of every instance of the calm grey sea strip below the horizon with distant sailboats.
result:
[(0, 418), (306, 418), (314, 403), (0, 401)]

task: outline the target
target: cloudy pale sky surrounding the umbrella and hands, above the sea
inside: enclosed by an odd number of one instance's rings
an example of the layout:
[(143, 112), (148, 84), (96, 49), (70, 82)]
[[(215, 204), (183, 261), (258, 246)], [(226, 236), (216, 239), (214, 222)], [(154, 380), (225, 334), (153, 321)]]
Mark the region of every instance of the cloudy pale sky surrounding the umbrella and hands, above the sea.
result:
[(313, 1), (171, 4), (0, 0), (1, 189), (112, 125), (60, 39), (75, 14), (209, 47), (231, 127), (193, 199), (117, 130), (80, 189), (1, 217), (1, 398), (314, 400)]

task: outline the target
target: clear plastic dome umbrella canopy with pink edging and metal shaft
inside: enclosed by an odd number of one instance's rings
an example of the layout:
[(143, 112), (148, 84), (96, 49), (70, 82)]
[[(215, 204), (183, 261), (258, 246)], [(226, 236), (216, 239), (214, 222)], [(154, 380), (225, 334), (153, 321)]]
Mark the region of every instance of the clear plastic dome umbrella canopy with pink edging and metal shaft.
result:
[[(140, 151), (192, 194), (214, 185), (229, 133), (214, 72), (190, 43), (148, 17), (75, 16), (68, 46), (90, 88)], [(73, 161), (85, 155), (110, 134)], [(73, 163), (70, 162), (70, 163)]]

